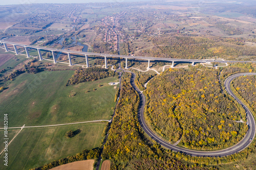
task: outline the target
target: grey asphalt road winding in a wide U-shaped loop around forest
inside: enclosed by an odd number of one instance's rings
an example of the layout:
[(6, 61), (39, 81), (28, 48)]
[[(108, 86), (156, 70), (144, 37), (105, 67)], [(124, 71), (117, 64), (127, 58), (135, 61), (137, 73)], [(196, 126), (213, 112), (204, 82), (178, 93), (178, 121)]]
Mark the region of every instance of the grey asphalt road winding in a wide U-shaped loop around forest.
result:
[[(126, 72), (131, 72), (131, 71), (126, 71)], [(134, 79), (135, 79), (136, 75), (134, 74), (134, 72), (131, 72), (131, 73), (132, 73), (131, 85), (139, 93), (139, 97), (140, 97), (140, 105), (139, 105), (139, 110), (138, 110), (139, 123), (140, 123), (142, 129), (145, 131), (145, 133), (148, 136), (150, 136), (153, 140), (155, 140), (156, 142), (161, 144), (163, 147), (173, 150), (173, 151), (176, 151), (176, 152), (181, 152), (181, 153), (184, 153), (187, 155), (191, 155), (191, 156), (222, 157), (222, 156), (231, 155), (231, 154), (234, 154), (234, 153), (244, 150), (250, 144), (250, 142), (251, 142), (250, 139), (254, 138), (254, 136), (255, 136), (255, 120), (253, 118), (253, 115), (250, 112), (250, 110), (237, 98), (237, 96), (233, 94), (233, 92), (230, 89), (230, 83), (233, 79), (235, 79), (239, 76), (245, 76), (245, 75), (246, 76), (249, 76), (249, 75), (256, 76), (256, 73), (254, 73), (254, 72), (247, 73), (246, 72), (246, 73), (236, 74), (236, 75), (232, 75), (232, 76), (228, 77), (225, 80), (224, 84), (225, 84), (227, 92), (234, 99), (236, 99), (238, 101), (238, 103), (240, 103), (243, 106), (243, 108), (246, 110), (249, 129), (248, 129), (245, 137), (240, 142), (233, 145), (232, 147), (229, 147), (224, 150), (219, 150), (219, 151), (196, 151), (196, 150), (190, 150), (190, 149), (177, 147), (176, 145), (170, 144), (167, 141), (163, 140), (158, 135), (156, 135), (150, 128), (148, 128), (148, 126), (145, 123), (145, 118), (144, 118), (144, 114), (143, 114), (144, 107), (145, 107), (145, 96), (142, 94), (142, 91), (140, 91), (134, 83)]]

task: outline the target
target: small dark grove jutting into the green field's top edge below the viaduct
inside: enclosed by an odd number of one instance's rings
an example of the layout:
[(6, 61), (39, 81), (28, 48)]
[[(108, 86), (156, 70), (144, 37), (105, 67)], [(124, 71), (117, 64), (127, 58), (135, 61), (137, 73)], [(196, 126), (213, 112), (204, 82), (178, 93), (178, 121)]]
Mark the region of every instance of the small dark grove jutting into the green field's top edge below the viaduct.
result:
[(118, 76), (118, 73), (111, 69), (101, 67), (77, 68), (74, 75), (67, 81), (66, 86), (114, 76)]

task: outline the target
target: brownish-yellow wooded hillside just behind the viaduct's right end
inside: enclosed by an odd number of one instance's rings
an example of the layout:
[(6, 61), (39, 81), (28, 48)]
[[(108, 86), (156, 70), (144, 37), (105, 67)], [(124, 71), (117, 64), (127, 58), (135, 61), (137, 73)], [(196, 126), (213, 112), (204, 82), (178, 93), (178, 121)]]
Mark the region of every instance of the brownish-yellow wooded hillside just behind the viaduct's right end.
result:
[(157, 36), (148, 38), (148, 41), (153, 42), (154, 47), (138, 55), (186, 59), (217, 57), (226, 60), (237, 60), (238, 56), (256, 56), (254, 47), (244, 45), (242, 38)]

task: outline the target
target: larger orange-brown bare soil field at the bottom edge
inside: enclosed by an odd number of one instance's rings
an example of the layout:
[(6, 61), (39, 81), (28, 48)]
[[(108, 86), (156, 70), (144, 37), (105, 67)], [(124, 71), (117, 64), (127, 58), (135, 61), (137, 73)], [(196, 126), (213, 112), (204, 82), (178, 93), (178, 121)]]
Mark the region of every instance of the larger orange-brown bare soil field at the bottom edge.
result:
[[(83, 161), (76, 161), (72, 163), (67, 163), (64, 165), (60, 165), (54, 168), (51, 168), (53, 170), (57, 169), (65, 169), (65, 170), (93, 170), (93, 159), (89, 160), (83, 160)], [(103, 162), (104, 163), (104, 162)]]

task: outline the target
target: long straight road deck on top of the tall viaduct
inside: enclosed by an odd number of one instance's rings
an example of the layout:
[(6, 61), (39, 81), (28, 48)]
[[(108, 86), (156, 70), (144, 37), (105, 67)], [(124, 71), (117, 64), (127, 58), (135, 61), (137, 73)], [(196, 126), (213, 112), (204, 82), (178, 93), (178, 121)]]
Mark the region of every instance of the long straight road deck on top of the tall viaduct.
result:
[[(0, 43), (7, 43), (7, 44), (13, 44), (17, 46), (27, 46), (34, 49), (40, 49), (40, 50), (47, 50), (47, 51), (53, 51), (53, 52), (63, 52), (63, 53), (71, 53), (71, 54), (81, 54), (81, 55), (94, 55), (94, 56), (105, 56), (105, 57), (118, 57), (118, 58), (131, 58), (131, 59), (143, 59), (143, 60), (161, 60), (161, 61), (183, 61), (183, 62), (195, 62), (195, 63), (206, 63), (206, 62), (212, 62), (214, 60), (193, 60), (193, 59), (175, 59), (175, 58), (158, 58), (158, 57), (142, 57), (142, 56), (124, 56), (124, 55), (114, 55), (114, 54), (101, 54), (101, 53), (89, 53), (89, 52), (78, 52), (78, 51), (72, 51), (72, 50), (61, 50), (61, 49), (55, 49), (55, 48), (48, 48), (48, 47), (42, 47), (42, 46), (33, 46), (33, 45), (25, 45), (25, 44), (19, 44), (16, 42), (9, 42), (0, 40)], [(228, 63), (228, 62), (254, 62), (256, 61), (222, 61), (222, 60), (215, 60), (215, 62), (220, 63)]]

